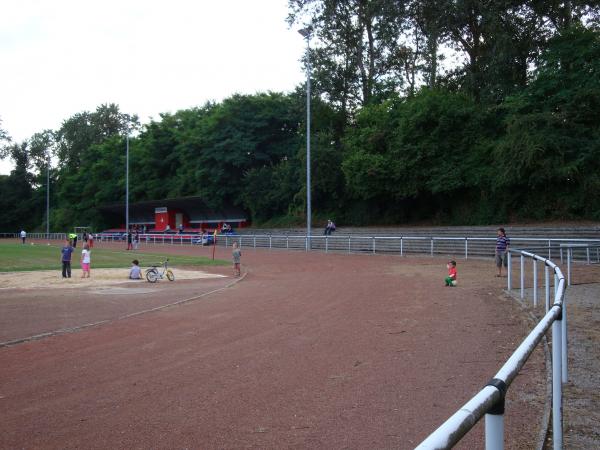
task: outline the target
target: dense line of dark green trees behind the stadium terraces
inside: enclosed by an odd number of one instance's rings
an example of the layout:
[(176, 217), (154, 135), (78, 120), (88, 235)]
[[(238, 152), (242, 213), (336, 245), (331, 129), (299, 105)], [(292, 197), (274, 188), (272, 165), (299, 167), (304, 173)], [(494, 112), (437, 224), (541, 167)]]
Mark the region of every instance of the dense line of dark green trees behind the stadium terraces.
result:
[[(289, 11), (312, 30), (317, 222), (600, 219), (597, 3), (290, 0)], [(98, 208), (124, 202), (127, 135), (131, 202), (193, 195), (255, 224), (302, 223), (305, 117), (298, 86), (143, 126), (100, 105), (19, 143), (0, 123), (0, 156), (15, 163), (0, 176), (0, 231), (45, 229), (47, 174), (52, 229), (115, 225)]]

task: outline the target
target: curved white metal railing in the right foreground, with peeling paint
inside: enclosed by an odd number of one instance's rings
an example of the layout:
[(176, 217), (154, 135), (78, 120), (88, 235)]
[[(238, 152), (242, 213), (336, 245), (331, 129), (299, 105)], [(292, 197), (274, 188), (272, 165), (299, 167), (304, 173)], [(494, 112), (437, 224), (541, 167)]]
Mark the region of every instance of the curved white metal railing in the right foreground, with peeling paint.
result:
[[(567, 381), (567, 316), (565, 303), (566, 281), (560, 268), (551, 260), (524, 250), (510, 250), (508, 254), (508, 290), (511, 289), (512, 255), (521, 261), (521, 292), (525, 266), (524, 261), (533, 261), (534, 280), (537, 283), (537, 266), (544, 265), (546, 292), (546, 314), (525, 340), (514, 351), (494, 377), (427, 437), (417, 449), (446, 449), (456, 445), (471, 428), (485, 416), (485, 448), (504, 448), (504, 399), (511, 383), (527, 362), (536, 346), (552, 328), (552, 442), (555, 450), (562, 449), (562, 383)], [(554, 275), (554, 302), (550, 305), (550, 272)]]

